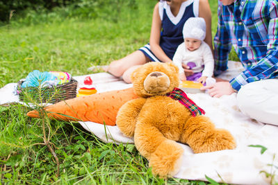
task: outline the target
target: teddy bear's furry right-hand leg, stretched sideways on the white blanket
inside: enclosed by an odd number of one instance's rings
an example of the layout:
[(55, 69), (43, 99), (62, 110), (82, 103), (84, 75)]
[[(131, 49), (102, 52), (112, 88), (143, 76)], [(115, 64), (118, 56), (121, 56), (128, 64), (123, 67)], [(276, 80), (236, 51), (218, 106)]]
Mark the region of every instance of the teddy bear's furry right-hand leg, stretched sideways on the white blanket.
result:
[(217, 129), (206, 116), (191, 117), (186, 121), (181, 142), (187, 143), (195, 153), (231, 150), (236, 142), (227, 130)]

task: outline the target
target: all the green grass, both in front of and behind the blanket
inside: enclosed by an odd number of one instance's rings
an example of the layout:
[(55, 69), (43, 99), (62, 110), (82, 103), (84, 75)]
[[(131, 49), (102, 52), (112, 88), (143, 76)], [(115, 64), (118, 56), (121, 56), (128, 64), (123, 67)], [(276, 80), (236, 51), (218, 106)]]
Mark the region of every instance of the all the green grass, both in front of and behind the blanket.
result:
[[(108, 64), (135, 51), (149, 41), (157, 1), (135, 2), (131, 9), (122, 6), (119, 15), (107, 7), (96, 10), (90, 19), (78, 16), (77, 10), (65, 17), (67, 8), (12, 17), (10, 24), (0, 27), (0, 87), (25, 78), (34, 69), (85, 75), (93, 64)], [(210, 3), (214, 35), (217, 0)], [(38, 144), (43, 143), (42, 120), (28, 118), (29, 110), (22, 105), (0, 106), (3, 184), (204, 184), (159, 179), (133, 145), (103, 143), (78, 123), (46, 120), (60, 161), (60, 177), (56, 177), (53, 155)]]

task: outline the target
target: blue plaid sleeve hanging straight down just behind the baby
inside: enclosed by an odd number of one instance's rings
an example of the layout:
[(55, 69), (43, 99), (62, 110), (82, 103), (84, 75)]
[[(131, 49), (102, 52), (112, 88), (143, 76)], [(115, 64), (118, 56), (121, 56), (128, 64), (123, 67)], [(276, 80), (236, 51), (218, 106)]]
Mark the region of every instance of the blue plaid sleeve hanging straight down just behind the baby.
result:
[(227, 70), (227, 63), (229, 53), (231, 51), (231, 40), (229, 31), (227, 30), (223, 15), (222, 15), (222, 3), (218, 2), (218, 28), (213, 39), (214, 43), (214, 59), (215, 59), (215, 76), (220, 75), (222, 71)]

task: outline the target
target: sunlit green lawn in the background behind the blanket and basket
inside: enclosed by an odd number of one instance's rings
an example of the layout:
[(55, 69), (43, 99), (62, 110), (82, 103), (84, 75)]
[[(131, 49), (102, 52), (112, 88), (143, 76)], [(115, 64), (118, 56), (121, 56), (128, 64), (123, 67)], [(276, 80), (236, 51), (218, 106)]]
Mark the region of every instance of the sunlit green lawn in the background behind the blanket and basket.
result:
[(148, 42), (154, 3), (139, 3), (135, 12), (126, 8), (115, 19), (53, 17), (28, 25), (12, 21), (0, 28), (0, 87), (33, 69), (76, 76), (89, 73), (92, 64), (124, 57)]

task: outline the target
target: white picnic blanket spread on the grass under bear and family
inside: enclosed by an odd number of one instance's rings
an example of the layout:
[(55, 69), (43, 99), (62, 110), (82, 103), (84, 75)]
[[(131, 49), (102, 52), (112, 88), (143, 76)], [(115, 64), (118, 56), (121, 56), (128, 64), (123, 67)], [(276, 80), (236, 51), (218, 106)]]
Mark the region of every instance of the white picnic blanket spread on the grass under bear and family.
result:
[[(240, 62), (229, 61), (228, 68), (220, 78), (230, 80), (243, 71)], [(132, 87), (108, 73), (90, 74), (90, 77), (98, 92)], [(78, 82), (84, 78), (74, 76)], [(18, 97), (12, 94), (15, 85), (10, 83), (0, 89), (0, 105), (19, 102)], [(184, 149), (183, 161), (181, 170), (174, 177), (206, 181), (207, 176), (216, 182), (228, 184), (270, 184), (273, 177), (272, 182), (278, 182), (278, 159), (275, 157), (278, 154), (277, 126), (245, 116), (236, 105), (236, 94), (221, 98), (212, 98), (208, 94), (188, 94), (188, 97), (206, 111), (206, 116), (211, 118), (216, 127), (229, 130), (237, 146), (234, 150), (194, 154), (188, 146), (180, 143)], [(123, 136), (117, 126), (79, 123), (104, 142), (133, 143), (133, 139)]]

